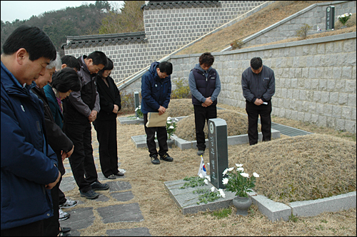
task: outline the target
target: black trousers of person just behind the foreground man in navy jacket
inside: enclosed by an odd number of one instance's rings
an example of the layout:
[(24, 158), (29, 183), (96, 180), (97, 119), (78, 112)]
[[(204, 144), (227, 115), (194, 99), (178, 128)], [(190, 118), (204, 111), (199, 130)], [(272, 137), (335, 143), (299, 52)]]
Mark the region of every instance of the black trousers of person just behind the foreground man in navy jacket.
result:
[(44, 236), (57, 236), (59, 234), (59, 183), (51, 189), (54, 216), (44, 219)]

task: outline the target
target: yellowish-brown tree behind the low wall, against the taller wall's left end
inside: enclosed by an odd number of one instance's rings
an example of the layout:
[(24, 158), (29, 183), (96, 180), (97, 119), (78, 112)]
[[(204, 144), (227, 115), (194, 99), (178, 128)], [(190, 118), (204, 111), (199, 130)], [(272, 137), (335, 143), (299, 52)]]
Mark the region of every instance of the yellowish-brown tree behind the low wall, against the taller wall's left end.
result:
[(111, 9), (101, 21), (99, 34), (144, 31), (144, 15), (140, 8), (143, 4), (145, 1), (124, 1), (120, 10)]

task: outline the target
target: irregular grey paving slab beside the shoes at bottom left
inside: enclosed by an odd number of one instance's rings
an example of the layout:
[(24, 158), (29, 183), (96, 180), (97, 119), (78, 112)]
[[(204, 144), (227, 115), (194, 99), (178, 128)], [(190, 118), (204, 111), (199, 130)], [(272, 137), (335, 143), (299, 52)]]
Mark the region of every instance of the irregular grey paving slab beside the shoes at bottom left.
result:
[(71, 236), (80, 236), (79, 230), (88, 228), (94, 223), (94, 213), (92, 207), (76, 208), (70, 211), (71, 217), (60, 221), (61, 226), (71, 227)]

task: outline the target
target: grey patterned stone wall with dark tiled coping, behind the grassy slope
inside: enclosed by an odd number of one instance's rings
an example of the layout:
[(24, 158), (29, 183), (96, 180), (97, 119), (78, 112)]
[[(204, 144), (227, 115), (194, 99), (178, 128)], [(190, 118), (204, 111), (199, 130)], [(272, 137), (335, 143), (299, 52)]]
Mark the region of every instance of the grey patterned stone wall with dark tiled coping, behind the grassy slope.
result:
[(265, 1), (168, 1), (167, 5), (161, 1), (163, 6), (150, 2), (142, 7), (144, 41), (134, 40), (130, 33), (125, 34), (123, 43), (121, 34), (67, 36), (68, 43), (62, 46), (64, 53), (79, 57), (103, 51), (114, 61), (111, 76), (119, 83)]

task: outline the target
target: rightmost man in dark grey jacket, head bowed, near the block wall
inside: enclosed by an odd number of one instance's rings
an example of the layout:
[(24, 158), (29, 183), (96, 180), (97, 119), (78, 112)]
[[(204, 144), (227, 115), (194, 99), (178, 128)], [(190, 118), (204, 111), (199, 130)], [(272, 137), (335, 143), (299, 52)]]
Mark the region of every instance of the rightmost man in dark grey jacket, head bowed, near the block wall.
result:
[(263, 65), (261, 58), (251, 59), (251, 66), (241, 79), (248, 114), (249, 144), (258, 143), (258, 116), (261, 115), (263, 141), (271, 140), (271, 97), (275, 94), (274, 71)]

